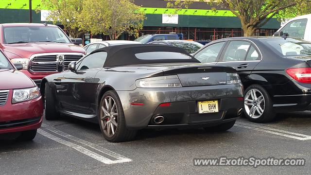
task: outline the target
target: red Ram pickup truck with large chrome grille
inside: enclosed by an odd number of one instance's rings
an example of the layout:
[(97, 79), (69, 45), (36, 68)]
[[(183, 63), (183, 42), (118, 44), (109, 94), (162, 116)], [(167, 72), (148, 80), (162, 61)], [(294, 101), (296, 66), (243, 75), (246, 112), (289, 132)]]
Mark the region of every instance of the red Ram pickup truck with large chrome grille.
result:
[(56, 25), (35, 23), (0, 24), (0, 49), (12, 63), (21, 63), (23, 73), (39, 86), (49, 74), (68, 69), (85, 50), (74, 45)]

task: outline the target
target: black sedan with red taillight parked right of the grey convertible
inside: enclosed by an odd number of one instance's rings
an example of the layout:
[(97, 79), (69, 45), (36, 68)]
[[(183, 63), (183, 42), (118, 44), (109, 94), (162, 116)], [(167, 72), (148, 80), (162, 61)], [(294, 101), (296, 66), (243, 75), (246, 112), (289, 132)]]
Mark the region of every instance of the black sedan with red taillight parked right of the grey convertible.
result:
[(194, 57), (208, 66), (238, 70), (250, 121), (264, 123), (277, 112), (311, 109), (310, 42), (286, 36), (226, 38), (209, 43)]

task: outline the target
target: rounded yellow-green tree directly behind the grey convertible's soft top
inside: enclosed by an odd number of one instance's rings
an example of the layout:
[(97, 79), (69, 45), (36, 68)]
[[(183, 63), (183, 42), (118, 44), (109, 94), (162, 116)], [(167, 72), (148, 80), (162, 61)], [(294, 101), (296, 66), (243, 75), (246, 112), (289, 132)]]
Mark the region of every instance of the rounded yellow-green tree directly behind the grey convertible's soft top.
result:
[(109, 35), (111, 40), (118, 39), (123, 33), (138, 35), (142, 29), (145, 15), (132, 0), (85, 0), (81, 13), (81, 29), (92, 34)]

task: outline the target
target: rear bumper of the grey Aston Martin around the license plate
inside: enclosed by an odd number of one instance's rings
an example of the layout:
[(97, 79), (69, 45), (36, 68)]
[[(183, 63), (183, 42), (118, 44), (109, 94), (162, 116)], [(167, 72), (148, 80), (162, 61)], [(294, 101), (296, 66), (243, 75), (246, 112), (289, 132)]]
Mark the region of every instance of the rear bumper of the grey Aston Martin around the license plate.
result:
[[(234, 119), (243, 106), (243, 87), (218, 85), (183, 88), (137, 88), (133, 91), (117, 91), (123, 106), (126, 126), (130, 129), (146, 127), (187, 127), (217, 125)], [(198, 101), (218, 100), (218, 113), (198, 113)], [(159, 107), (161, 103), (170, 106)], [(140, 103), (144, 105), (130, 105)], [(155, 124), (153, 117), (162, 115), (164, 122)], [(229, 122), (229, 121), (227, 121)], [(212, 125), (213, 125), (212, 124)]]

